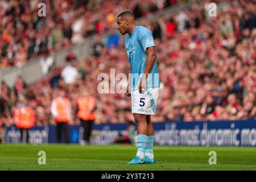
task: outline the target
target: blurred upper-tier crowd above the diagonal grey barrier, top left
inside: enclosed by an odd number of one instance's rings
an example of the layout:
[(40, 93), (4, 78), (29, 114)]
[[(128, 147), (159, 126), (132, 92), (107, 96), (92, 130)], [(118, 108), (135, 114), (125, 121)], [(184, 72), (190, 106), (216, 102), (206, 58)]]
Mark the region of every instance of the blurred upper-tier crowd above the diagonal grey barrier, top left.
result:
[[(40, 17), (38, 13), (44, 12)], [(22, 66), (31, 57), (102, 34), (115, 23), (115, 14), (129, 9), (137, 18), (176, 3), (119, 0), (3, 0), (0, 1), (0, 69)]]

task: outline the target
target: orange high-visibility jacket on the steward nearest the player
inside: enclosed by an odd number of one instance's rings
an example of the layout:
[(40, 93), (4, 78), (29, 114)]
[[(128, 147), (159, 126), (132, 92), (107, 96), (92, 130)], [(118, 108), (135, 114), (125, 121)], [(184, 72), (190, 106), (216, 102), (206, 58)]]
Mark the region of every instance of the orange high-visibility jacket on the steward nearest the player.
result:
[(84, 120), (94, 120), (95, 113), (93, 109), (96, 107), (96, 100), (92, 96), (80, 97), (77, 99), (77, 117)]

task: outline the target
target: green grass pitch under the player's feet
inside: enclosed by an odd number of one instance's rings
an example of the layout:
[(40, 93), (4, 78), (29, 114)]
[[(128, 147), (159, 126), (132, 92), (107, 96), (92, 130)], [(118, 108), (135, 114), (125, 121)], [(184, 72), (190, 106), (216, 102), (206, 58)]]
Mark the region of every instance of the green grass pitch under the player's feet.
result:
[[(39, 151), (46, 165), (39, 165)], [(217, 164), (209, 165), (209, 151)], [(135, 145), (0, 144), (0, 170), (256, 170), (256, 147), (154, 146), (156, 164), (127, 165)]]

